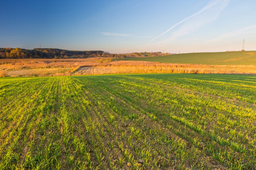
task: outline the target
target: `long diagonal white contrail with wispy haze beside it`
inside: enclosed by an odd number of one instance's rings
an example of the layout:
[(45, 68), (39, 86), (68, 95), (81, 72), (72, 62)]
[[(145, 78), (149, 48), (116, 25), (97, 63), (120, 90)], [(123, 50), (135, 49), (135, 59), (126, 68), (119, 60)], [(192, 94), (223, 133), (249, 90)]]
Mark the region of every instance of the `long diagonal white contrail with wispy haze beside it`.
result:
[(170, 32), (172, 29), (176, 28), (178, 25), (181, 25), (181, 27), (177, 31), (173, 32), (169, 39), (163, 42), (170, 41), (171, 39), (175, 39), (177, 37), (187, 35), (188, 33), (195, 31), (195, 29), (203, 26), (204, 24), (213, 22), (218, 18), (218, 15), (220, 14), (220, 12), (224, 10), (224, 8), (229, 4), (230, 1), (231, 0), (211, 1), (203, 9), (181, 20), (179, 23), (173, 25), (166, 32), (163, 32), (161, 35), (147, 42), (146, 45), (150, 44), (152, 41), (158, 39), (159, 37), (165, 35), (167, 32)]

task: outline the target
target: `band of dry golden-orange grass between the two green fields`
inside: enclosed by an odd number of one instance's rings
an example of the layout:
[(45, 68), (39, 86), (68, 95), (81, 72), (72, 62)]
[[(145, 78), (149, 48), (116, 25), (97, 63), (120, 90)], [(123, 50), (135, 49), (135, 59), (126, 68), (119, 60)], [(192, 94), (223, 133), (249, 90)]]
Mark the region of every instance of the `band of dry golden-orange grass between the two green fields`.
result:
[(112, 61), (110, 58), (0, 60), (0, 76), (123, 73), (256, 74), (256, 65), (193, 65), (146, 61)]

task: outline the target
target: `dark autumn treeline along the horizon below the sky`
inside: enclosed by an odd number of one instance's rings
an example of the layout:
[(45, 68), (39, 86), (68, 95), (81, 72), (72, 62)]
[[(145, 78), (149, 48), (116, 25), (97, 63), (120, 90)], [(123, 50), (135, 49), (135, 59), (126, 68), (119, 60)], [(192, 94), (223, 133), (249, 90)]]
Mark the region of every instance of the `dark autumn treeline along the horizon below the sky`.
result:
[(0, 58), (88, 58), (88, 57), (156, 57), (164, 56), (169, 53), (151, 52), (151, 53), (127, 53), (127, 54), (110, 54), (102, 50), (76, 51), (63, 50), (56, 48), (35, 48), (33, 50), (20, 48), (0, 48)]

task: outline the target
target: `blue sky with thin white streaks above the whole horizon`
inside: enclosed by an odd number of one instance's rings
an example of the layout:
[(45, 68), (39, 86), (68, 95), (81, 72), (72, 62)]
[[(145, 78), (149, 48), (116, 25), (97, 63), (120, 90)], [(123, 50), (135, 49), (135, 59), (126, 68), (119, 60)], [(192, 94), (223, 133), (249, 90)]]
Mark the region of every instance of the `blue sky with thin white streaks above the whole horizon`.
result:
[(255, 0), (8, 0), (0, 47), (130, 52), (256, 50)]

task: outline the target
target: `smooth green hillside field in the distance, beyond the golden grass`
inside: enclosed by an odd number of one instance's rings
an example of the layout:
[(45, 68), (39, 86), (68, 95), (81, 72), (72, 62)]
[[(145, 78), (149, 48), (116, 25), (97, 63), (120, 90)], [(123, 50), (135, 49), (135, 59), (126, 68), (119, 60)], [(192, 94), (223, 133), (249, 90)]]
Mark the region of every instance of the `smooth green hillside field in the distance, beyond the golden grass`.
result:
[(119, 58), (116, 60), (191, 63), (203, 65), (256, 65), (256, 52), (185, 53), (159, 57)]

